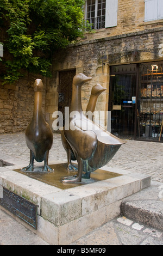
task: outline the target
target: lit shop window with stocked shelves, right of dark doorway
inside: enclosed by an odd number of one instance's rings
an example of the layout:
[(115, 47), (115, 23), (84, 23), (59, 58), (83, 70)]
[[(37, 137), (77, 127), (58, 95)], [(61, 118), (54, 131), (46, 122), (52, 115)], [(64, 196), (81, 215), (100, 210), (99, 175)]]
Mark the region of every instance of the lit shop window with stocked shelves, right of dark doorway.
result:
[(139, 138), (162, 141), (163, 62), (140, 65), (137, 108)]

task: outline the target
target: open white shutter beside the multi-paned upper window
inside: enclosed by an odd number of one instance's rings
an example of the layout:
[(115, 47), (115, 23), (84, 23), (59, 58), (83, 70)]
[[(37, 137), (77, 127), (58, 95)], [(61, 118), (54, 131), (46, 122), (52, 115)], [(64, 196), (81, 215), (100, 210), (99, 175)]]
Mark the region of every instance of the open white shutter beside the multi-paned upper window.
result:
[(106, 0), (105, 28), (117, 26), (118, 0)]

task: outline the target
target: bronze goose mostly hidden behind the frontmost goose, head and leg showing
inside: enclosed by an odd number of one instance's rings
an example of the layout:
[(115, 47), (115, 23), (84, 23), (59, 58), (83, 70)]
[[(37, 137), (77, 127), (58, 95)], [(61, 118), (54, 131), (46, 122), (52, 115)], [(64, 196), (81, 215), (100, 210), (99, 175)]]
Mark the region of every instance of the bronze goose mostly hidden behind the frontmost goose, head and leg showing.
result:
[[(97, 83), (96, 86), (92, 87), (90, 100), (89, 100), (89, 103), (88, 103), (87, 108), (86, 108), (86, 112), (88, 112), (88, 113), (89, 113), (89, 111), (91, 112), (90, 113), (91, 117), (92, 117), (92, 113), (95, 111), (98, 96), (101, 93), (103, 93), (105, 90), (106, 90), (106, 88), (103, 88), (101, 86), (101, 84), (99, 84), (99, 83)], [(74, 156), (74, 153), (73, 153), (70, 145), (66, 141), (66, 138), (64, 136), (64, 132), (62, 132), (62, 131), (60, 131), (60, 132), (61, 132), (62, 145), (63, 145), (63, 147), (64, 147), (64, 149), (66, 150), (66, 153), (67, 153), (67, 163), (68, 163), (67, 170), (76, 170), (77, 168), (75, 166), (73, 166), (72, 162), (71, 162), (72, 160), (75, 161), (76, 157)]]

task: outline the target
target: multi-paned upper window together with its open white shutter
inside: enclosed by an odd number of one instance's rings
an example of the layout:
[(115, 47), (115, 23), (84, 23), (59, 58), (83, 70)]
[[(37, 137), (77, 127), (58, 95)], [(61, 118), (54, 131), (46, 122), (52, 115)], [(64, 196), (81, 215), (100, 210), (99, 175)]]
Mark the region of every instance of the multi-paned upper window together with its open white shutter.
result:
[(87, 0), (85, 4), (85, 20), (91, 29), (117, 26), (118, 0)]

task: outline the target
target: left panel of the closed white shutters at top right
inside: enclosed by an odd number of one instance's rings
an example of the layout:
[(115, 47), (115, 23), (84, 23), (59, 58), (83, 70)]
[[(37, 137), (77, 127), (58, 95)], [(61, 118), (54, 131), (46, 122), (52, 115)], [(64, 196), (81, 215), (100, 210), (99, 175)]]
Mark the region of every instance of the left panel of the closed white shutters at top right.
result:
[(145, 0), (145, 21), (157, 20), (157, 10), (158, 0)]

